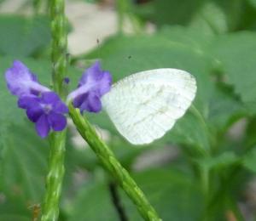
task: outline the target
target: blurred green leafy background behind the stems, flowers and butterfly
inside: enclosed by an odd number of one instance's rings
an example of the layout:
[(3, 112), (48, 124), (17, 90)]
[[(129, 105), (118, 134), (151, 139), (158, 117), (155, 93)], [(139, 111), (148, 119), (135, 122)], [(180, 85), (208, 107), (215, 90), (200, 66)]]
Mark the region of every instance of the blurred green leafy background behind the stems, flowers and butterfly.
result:
[[(227, 220), (229, 214), (247, 220), (237, 205), (247, 206), (244, 195), (256, 172), (256, 1), (154, 0), (126, 7), (124, 16), (152, 22), (155, 33), (146, 34), (142, 26), (137, 35), (119, 33), (90, 53), (71, 56), (70, 88), (83, 71), (79, 65), (88, 66), (91, 59), (102, 59), (114, 81), (163, 67), (192, 73), (198, 111), (191, 108), (153, 144), (131, 146), (104, 112), (88, 115), (90, 122), (108, 130), (108, 143), (163, 220)], [(46, 15), (1, 15), (0, 30), (0, 221), (31, 220), (33, 205), (44, 195), (49, 144), (16, 108), (3, 74), (13, 59), (20, 59), (49, 85), (49, 20)], [(236, 122), (245, 126), (230, 135)], [(119, 220), (108, 190), (111, 178), (74, 137), (70, 126), (60, 220)], [(135, 169), (142, 156), (166, 146), (171, 153), (179, 150), (174, 159)], [(119, 197), (129, 220), (141, 220), (121, 190)]]

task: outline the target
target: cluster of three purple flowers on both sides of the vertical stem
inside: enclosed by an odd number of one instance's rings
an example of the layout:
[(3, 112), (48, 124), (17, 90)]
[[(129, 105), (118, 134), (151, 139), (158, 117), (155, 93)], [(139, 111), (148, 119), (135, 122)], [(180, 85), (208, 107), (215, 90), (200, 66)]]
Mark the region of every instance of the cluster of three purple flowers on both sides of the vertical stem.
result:
[[(40, 84), (26, 65), (15, 60), (5, 72), (5, 79), (10, 93), (18, 97), (18, 106), (26, 110), (26, 116), (35, 123), (40, 137), (46, 137), (50, 129), (61, 131), (67, 126), (67, 105), (55, 92)], [(69, 79), (64, 81), (68, 83)], [(110, 90), (111, 82), (110, 73), (102, 71), (99, 62), (96, 62), (84, 72), (78, 88), (68, 95), (67, 100), (73, 101), (81, 112), (101, 111), (100, 99)]]

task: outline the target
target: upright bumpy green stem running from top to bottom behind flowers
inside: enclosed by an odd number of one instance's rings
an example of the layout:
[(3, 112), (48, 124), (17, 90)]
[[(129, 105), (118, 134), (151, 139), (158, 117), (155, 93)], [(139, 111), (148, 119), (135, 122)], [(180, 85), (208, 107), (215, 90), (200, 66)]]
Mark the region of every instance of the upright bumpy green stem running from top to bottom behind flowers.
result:
[[(67, 70), (67, 31), (64, 14), (64, 0), (51, 0), (52, 33), (52, 86), (61, 99), (66, 97), (64, 77)], [(59, 216), (59, 201), (64, 176), (66, 130), (52, 133), (49, 138), (49, 172), (46, 178), (46, 192), (42, 209), (42, 221), (55, 221)]]

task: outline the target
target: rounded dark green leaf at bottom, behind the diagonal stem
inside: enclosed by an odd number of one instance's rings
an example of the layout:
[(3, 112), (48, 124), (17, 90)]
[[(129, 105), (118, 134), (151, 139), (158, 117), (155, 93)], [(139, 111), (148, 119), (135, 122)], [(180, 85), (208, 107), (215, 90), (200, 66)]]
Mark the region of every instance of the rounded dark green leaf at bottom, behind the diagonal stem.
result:
[[(152, 169), (134, 178), (163, 220), (200, 220), (204, 210), (201, 191), (188, 174)], [(130, 201), (125, 201), (125, 208), (131, 220), (143, 220)]]

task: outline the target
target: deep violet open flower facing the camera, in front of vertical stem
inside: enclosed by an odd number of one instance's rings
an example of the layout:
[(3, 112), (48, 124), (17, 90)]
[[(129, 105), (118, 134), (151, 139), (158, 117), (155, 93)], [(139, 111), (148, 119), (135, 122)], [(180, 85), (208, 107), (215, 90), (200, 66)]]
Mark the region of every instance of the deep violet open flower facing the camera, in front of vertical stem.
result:
[(48, 135), (50, 128), (61, 131), (67, 125), (67, 119), (63, 116), (68, 112), (67, 106), (54, 92), (44, 92), (41, 97), (22, 96), (18, 105), (26, 109), (26, 116), (36, 123), (36, 130), (42, 138)]

